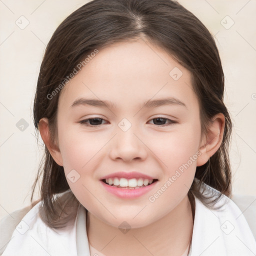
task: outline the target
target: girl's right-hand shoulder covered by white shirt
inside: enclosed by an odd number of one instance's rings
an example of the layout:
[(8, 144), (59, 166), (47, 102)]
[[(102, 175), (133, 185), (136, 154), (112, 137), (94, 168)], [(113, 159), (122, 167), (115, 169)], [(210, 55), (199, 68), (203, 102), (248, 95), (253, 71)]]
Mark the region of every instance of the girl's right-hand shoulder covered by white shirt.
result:
[(205, 248), (209, 256), (247, 255), (248, 248), (256, 253), (256, 240), (248, 221), (235, 202), (205, 183), (201, 189), (203, 195), (217, 196), (218, 200), (213, 205), (214, 208), (210, 208), (195, 197), (192, 253), (190, 255), (204, 253)]

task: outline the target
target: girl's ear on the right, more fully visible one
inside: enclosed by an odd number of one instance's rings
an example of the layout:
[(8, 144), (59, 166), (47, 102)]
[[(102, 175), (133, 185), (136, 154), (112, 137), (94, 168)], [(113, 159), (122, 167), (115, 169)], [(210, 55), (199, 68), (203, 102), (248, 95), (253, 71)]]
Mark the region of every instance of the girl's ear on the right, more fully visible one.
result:
[(207, 126), (207, 134), (203, 136), (197, 157), (196, 166), (201, 166), (218, 150), (223, 139), (225, 116), (218, 113), (213, 116)]

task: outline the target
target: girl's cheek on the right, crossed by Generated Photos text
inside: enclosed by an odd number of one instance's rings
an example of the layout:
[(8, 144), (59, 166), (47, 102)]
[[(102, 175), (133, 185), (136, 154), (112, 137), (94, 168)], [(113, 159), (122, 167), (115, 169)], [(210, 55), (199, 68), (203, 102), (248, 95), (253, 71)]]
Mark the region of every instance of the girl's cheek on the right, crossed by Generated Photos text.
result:
[(165, 139), (161, 139), (161, 145), (158, 143), (154, 147), (164, 171), (159, 186), (148, 200), (151, 206), (156, 208), (169, 205), (163, 210), (163, 215), (184, 198), (194, 178), (199, 152), (200, 125), (193, 124), (173, 134), (169, 133)]

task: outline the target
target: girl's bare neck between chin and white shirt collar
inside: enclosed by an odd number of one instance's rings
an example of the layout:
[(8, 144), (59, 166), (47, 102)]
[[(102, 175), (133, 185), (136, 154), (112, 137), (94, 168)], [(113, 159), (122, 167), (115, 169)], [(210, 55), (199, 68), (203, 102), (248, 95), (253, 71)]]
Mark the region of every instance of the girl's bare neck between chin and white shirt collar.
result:
[(182, 255), (191, 240), (193, 200), (193, 197), (188, 198), (186, 195), (162, 218), (150, 225), (130, 229), (125, 234), (122, 234), (118, 227), (111, 226), (87, 212), (89, 243), (107, 256)]

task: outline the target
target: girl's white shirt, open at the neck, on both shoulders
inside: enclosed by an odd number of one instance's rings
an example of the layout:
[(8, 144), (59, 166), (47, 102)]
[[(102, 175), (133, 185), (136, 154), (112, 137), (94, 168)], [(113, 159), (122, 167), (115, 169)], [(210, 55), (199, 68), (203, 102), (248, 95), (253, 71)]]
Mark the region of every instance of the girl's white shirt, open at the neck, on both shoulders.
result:
[[(204, 194), (215, 191), (205, 185)], [(188, 256), (255, 256), (256, 240), (238, 206), (222, 195), (210, 210), (195, 197), (195, 214)], [(2, 256), (90, 256), (86, 233), (86, 210), (80, 205), (74, 222), (52, 229), (40, 218), (39, 201), (14, 229)]]

